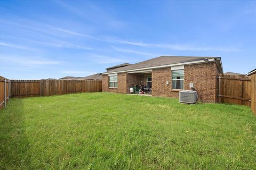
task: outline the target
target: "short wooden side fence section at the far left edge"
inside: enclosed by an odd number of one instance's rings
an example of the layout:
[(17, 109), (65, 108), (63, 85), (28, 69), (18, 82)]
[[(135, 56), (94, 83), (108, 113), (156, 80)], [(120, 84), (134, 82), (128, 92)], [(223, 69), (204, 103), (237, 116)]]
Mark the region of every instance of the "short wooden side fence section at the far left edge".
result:
[(11, 99), (11, 81), (0, 76), (0, 108), (5, 107)]

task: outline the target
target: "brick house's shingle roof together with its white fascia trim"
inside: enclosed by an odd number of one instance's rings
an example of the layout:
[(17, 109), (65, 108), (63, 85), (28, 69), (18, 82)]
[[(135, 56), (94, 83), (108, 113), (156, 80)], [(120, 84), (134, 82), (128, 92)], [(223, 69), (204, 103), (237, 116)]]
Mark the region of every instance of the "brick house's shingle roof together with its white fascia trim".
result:
[(146, 60), (143, 62), (127, 65), (124, 67), (118, 67), (116, 69), (107, 70), (107, 73), (116, 73), (116, 72), (125, 72), (125, 71), (133, 71), (133, 70), (145, 70), (145, 69), (155, 69), (157, 67), (168, 67), (172, 64), (174, 65), (182, 65), (181, 63), (199, 63), (199, 62), (207, 62), (208, 60), (219, 60), (219, 69), (222, 73), (222, 64), (220, 57), (189, 57), (189, 56), (160, 56), (150, 60)]

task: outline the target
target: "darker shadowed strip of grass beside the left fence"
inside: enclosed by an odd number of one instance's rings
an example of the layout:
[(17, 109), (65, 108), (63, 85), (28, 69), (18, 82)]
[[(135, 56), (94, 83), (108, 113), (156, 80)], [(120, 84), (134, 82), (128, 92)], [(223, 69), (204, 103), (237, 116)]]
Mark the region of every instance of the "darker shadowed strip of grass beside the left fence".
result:
[(12, 99), (0, 111), (0, 169), (26, 168), (30, 165), (23, 113), (21, 98)]

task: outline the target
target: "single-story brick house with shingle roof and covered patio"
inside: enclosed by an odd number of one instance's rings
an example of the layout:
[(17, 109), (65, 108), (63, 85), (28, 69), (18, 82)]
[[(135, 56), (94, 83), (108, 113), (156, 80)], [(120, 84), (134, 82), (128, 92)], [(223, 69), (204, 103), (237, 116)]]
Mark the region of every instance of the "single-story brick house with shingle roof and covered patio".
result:
[(179, 97), (179, 91), (193, 85), (198, 99), (217, 102), (220, 73), (220, 57), (161, 56), (108, 68), (102, 73), (102, 91), (129, 94), (132, 85), (142, 84), (151, 87), (152, 96)]

